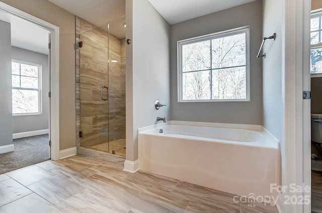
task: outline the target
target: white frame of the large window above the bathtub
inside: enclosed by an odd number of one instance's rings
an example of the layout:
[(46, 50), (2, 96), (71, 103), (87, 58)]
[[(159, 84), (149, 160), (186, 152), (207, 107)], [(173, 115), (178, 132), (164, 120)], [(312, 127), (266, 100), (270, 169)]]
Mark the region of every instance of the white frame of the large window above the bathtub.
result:
[[(246, 98), (245, 99), (198, 99), (198, 100), (184, 100), (183, 99), (183, 60), (182, 60), (182, 46), (193, 44), (197, 42), (233, 36), (245, 33), (246, 35)], [(178, 74), (178, 102), (231, 102), (231, 101), (250, 101), (250, 26), (234, 28), (226, 31), (211, 33), (203, 36), (193, 37), (177, 41), (177, 74)], [(237, 66), (233, 66), (237, 67)], [(213, 70), (213, 69), (209, 69)]]

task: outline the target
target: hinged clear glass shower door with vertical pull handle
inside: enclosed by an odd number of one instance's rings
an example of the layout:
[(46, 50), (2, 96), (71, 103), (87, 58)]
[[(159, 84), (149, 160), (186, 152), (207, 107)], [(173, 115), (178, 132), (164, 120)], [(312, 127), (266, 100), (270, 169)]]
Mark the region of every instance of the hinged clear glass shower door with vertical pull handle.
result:
[(77, 145), (108, 151), (108, 33), (78, 17), (76, 91)]

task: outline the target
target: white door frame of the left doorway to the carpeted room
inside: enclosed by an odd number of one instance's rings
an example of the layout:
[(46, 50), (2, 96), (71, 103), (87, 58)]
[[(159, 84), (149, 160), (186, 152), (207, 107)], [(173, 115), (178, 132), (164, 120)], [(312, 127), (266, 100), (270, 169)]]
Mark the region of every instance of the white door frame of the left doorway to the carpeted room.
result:
[(50, 124), (49, 133), (51, 134), (51, 160), (59, 160), (59, 27), (44, 20), (27, 14), (3, 2), (0, 2), (0, 10), (11, 15), (24, 19), (28, 22), (46, 29), (51, 35), (51, 54), (50, 54)]

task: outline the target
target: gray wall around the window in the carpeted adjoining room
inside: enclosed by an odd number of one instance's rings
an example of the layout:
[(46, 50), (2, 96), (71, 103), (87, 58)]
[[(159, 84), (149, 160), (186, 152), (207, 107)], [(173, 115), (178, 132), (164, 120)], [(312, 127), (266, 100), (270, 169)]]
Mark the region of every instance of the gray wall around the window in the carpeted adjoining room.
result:
[(12, 59), (42, 65), (42, 114), (34, 116), (13, 116), (13, 133), (48, 129), (49, 118), (49, 68), (48, 55), (12, 47)]

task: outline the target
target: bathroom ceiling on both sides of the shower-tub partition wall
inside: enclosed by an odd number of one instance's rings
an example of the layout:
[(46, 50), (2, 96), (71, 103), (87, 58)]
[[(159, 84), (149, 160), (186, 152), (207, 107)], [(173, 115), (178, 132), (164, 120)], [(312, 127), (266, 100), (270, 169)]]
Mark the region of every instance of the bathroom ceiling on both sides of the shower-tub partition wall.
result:
[[(48, 0), (66, 11), (102, 26), (125, 16), (125, 0)], [(135, 0), (133, 0), (135, 1)], [(222, 11), (255, 0), (148, 0), (167, 20), (176, 24), (207, 14)]]

